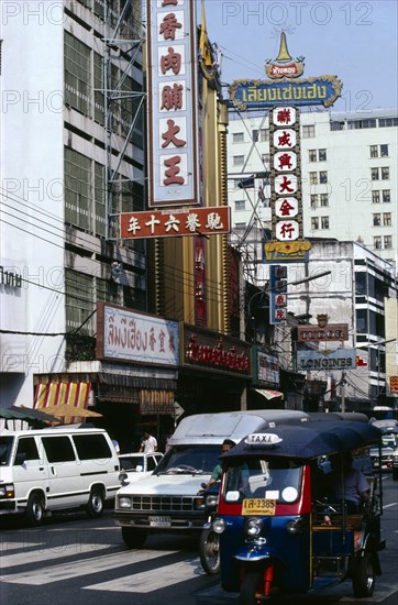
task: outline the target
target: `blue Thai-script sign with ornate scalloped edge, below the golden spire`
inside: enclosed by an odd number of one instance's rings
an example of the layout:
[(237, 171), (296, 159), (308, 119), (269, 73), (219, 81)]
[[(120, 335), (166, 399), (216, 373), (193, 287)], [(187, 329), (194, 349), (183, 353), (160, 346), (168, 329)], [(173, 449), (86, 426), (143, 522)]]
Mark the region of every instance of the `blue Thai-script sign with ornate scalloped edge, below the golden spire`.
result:
[(234, 80), (230, 100), (237, 109), (323, 105), (331, 107), (340, 97), (342, 82), (336, 76), (318, 76), (295, 81)]

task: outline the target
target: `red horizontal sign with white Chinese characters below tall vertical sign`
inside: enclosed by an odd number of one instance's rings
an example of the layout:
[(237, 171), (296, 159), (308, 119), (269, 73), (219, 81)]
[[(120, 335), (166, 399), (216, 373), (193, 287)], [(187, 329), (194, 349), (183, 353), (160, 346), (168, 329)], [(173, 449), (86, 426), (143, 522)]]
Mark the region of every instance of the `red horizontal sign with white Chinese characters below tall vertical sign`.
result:
[(120, 237), (125, 240), (230, 232), (230, 207), (178, 208), (147, 212), (122, 212)]

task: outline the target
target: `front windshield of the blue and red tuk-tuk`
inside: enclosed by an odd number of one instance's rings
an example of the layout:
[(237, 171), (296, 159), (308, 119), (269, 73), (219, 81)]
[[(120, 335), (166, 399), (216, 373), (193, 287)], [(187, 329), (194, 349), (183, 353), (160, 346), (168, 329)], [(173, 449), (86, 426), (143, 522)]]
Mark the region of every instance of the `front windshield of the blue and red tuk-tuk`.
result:
[(223, 497), (226, 503), (244, 498), (267, 498), (280, 504), (298, 499), (302, 466), (291, 459), (253, 458), (225, 471)]

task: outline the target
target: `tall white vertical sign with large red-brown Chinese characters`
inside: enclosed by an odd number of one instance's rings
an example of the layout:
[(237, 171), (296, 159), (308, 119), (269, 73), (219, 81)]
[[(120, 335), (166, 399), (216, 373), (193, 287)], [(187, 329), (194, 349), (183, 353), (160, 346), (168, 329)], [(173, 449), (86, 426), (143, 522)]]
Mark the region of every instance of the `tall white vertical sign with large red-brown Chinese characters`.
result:
[(198, 205), (194, 0), (147, 0), (148, 206)]

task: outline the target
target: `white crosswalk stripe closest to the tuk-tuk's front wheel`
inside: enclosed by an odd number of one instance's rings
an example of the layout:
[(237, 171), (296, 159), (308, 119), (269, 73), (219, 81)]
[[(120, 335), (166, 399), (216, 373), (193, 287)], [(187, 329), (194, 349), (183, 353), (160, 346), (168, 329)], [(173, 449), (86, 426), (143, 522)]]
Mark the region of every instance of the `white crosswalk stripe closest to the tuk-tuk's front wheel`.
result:
[(123, 578), (111, 580), (110, 582), (91, 584), (90, 586), (85, 586), (85, 590), (148, 593), (165, 588), (166, 586), (173, 586), (186, 580), (192, 580), (192, 578), (199, 575), (206, 574), (199, 563), (199, 558), (195, 557), (186, 561), (179, 561), (173, 565), (165, 565), (132, 575), (123, 575)]

